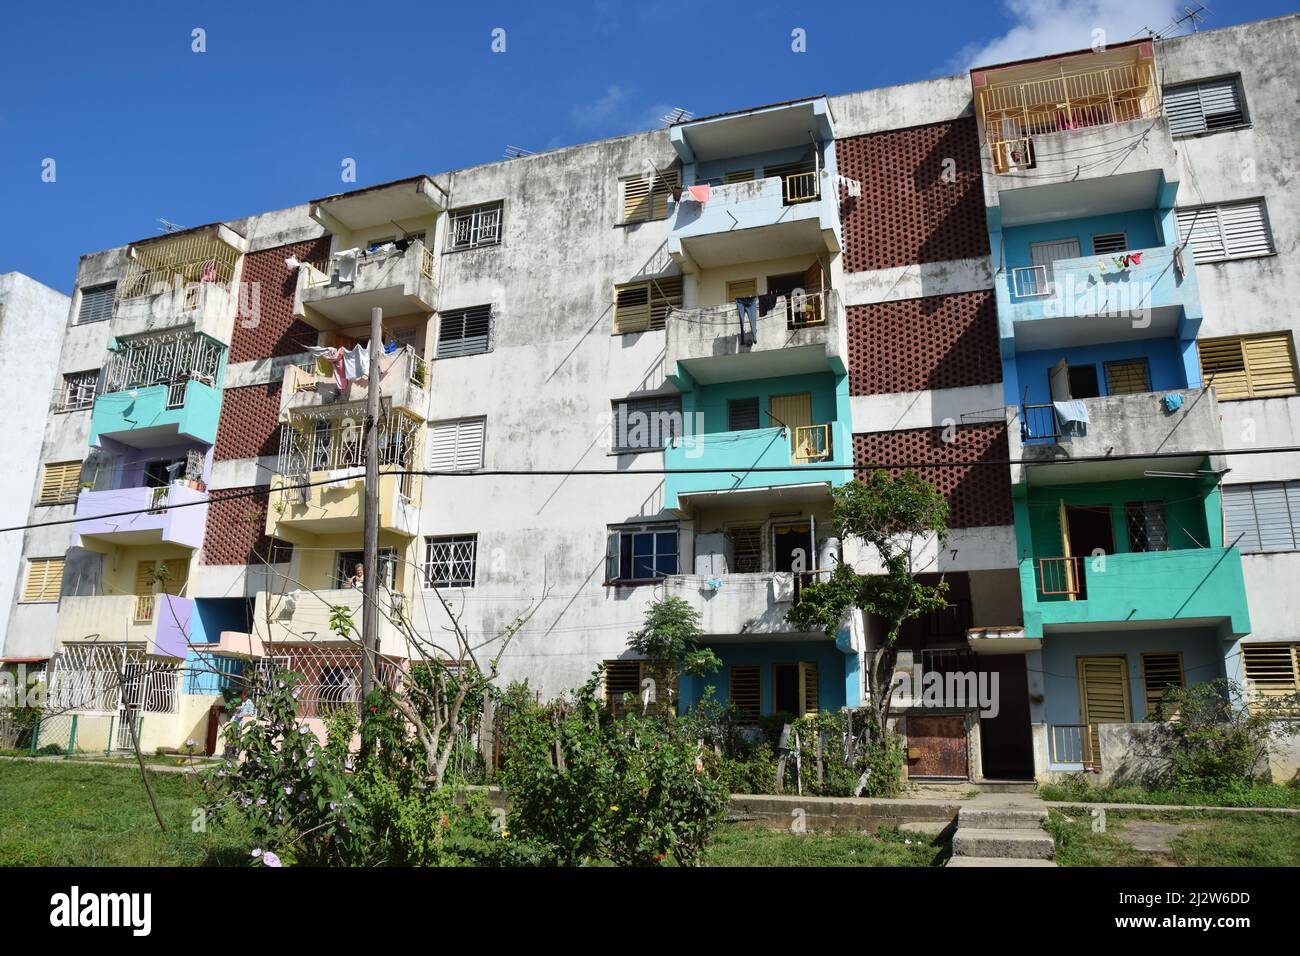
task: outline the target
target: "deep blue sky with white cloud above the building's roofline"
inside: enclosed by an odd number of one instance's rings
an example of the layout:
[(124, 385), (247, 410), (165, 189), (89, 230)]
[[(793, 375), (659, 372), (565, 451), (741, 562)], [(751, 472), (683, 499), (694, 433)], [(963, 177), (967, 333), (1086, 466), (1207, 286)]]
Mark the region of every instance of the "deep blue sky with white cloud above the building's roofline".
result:
[[(0, 21), (0, 273), (352, 185), (697, 114), (962, 72), (1180, 14), (1178, 0), (23, 3)], [(1206, 26), (1288, 0), (1213, 4)], [(205, 31), (194, 52), (192, 30)], [(504, 52), (493, 31), (504, 30)], [(792, 51), (792, 31), (806, 52)], [(55, 181), (42, 179), (55, 160)]]

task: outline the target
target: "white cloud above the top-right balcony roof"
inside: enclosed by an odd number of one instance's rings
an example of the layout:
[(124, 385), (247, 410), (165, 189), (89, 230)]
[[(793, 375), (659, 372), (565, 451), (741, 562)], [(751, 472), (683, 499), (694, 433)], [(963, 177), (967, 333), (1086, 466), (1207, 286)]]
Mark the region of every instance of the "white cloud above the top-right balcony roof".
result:
[(1088, 49), (1098, 36), (1106, 44), (1123, 43), (1183, 16), (1176, 0), (1004, 0), (1004, 5), (1017, 25), (992, 40), (963, 47), (949, 62), (952, 72)]

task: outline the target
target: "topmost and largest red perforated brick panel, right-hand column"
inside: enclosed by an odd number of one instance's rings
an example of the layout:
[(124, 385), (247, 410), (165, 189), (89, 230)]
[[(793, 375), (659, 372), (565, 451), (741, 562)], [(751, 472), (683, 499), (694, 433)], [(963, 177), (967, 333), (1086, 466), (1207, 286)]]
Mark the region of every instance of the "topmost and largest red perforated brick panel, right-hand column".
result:
[(835, 156), (862, 183), (840, 189), (845, 271), (988, 255), (974, 118), (837, 139)]

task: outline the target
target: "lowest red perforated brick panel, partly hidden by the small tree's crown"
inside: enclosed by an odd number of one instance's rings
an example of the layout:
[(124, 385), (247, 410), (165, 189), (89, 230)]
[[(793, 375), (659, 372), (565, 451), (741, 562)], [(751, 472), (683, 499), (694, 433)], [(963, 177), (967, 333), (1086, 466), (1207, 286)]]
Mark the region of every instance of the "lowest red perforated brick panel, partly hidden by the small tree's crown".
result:
[[(942, 428), (909, 428), (853, 436), (853, 460), (859, 472), (870, 466), (928, 464), (916, 471), (948, 499), (953, 528), (982, 528), (1011, 523), (1011, 472), (1005, 464), (1006, 425), (1001, 421), (961, 425), (953, 441)], [(952, 462), (952, 464), (948, 464)], [(1002, 464), (958, 464), (1002, 462)]]

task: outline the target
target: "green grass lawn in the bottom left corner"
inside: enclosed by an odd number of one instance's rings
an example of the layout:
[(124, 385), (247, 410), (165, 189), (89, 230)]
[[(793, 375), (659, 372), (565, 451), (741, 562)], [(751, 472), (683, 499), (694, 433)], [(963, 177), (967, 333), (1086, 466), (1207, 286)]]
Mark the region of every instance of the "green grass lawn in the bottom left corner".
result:
[(139, 770), (55, 761), (0, 762), (0, 866), (242, 864), (230, 836), (196, 834), (198, 787), (151, 774), (169, 831), (159, 830)]

